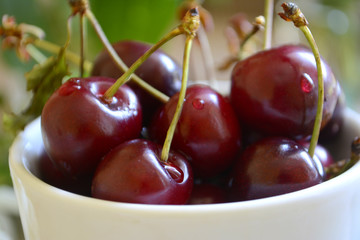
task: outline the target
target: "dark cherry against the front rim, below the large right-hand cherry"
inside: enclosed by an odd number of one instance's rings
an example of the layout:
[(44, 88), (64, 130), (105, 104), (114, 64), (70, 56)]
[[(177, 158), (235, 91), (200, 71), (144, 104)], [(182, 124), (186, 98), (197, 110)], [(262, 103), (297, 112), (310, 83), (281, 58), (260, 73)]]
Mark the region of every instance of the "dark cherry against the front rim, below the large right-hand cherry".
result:
[(237, 160), (230, 181), (231, 200), (276, 196), (323, 182), (318, 167), (299, 143), (282, 137), (262, 139)]

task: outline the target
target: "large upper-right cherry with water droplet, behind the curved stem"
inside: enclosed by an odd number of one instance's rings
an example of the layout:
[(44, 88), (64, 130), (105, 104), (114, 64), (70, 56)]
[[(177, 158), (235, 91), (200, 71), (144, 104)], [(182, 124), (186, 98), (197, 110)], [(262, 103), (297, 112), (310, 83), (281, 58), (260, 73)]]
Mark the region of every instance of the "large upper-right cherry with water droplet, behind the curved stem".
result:
[[(322, 60), (324, 111), (330, 120), (337, 82)], [(230, 100), (246, 125), (270, 135), (303, 138), (312, 133), (318, 96), (317, 68), (308, 48), (284, 45), (238, 62), (231, 75)]]

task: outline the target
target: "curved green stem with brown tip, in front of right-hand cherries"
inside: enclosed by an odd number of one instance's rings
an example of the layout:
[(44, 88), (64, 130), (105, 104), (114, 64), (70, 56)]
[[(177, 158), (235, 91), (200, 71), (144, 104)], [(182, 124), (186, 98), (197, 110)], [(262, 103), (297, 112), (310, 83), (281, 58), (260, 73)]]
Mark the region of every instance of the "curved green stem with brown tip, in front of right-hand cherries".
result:
[(314, 58), (316, 62), (316, 68), (318, 74), (318, 101), (317, 101), (317, 111), (316, 111), (314, 129), (308, 150), (309, 155), (313, 157), (317, 142), (319, 140), (323, 107), (324, 107), (324, 81), (323, 81), (321, 57), (315, 39), (311, 34), (310, 29), (307, 26), (308, 21), (306, 20), (303, 13), (300, 11), (299, 7), (294, 3), (283, 3), (281, 6), (284, 9), (284, 13), (279, 13), (280, 17), (282, 17), (286, 21), (292, 21), (296, 27), (300, 28), (300, 30), (304, 33), (307, 41), (309, 42), (309, 45), (314, 54)]

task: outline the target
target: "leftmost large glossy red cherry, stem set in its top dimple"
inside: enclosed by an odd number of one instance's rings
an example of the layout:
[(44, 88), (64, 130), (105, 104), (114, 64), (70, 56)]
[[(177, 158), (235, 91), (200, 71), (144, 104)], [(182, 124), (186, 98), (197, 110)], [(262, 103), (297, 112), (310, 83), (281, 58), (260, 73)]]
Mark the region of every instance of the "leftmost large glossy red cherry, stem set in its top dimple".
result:
[(69, 177), (91, 176), (111, 148), (140, 134), (141, 106), (128, 86), (123, 85), (111, 102), (103, 100), (114, 82), (104, 77), (72, 78), (44, 106), (45, 150)]

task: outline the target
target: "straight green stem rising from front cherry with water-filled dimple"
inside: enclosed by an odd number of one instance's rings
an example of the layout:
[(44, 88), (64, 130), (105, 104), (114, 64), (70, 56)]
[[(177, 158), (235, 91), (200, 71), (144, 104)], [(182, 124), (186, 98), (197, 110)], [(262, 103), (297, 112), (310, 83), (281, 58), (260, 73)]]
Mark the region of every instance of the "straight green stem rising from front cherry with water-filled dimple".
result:
[(190, 9), (185, 17), (184, 17), (184, 30), (186, 32), (186, 41), (185, 41), (185, 48), (184, 48), (184, 55), (183, 55), (183, 67), (182, 67), (182, 79), (181, 79), (181, 88), (179, 92), (179, 98), (176, 105), (174, 117), (171, 120), (169, 129), (166, 133), (166, 138), (164, 141), (163, 149), (161, 151), (161, 160), (164, 162), (167, 162), (169, 158), (169, 152), (171, 147), (171, 142), (174, 137), (175, 129), (177, 126), (177, 123), (179, 121), (185, 95), (186, 95), (186, 88), (187, 88), (187, 82), (188, 82), (188, 74), (189, 74), (189, 62), (190, 62), (190, 53), (191, 53), (191, 47), (193, 43), (193, 39), (196, 36), (196, 31), (199, 29), (200, 26), (200, 18), (199, 18), (199, 12), (197, 8)]

